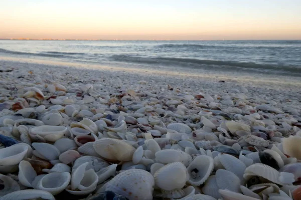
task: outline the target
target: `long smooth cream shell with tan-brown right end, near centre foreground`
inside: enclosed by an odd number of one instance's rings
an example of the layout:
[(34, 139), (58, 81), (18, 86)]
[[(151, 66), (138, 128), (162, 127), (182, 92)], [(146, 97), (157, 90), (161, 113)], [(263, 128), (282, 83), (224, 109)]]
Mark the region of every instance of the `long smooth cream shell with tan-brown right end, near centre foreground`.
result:
[(113, 138), (96, 140), (93, 147), (100, 156), (111, 161), (129, 161), (135, 151), (130, 144)]

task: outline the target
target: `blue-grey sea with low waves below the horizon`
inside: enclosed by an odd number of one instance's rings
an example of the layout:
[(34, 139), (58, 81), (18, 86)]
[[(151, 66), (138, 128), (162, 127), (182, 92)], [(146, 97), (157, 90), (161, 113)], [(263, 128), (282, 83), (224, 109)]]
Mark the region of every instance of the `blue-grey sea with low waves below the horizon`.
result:
[(0, 56), (301, 76), (301, 40), (0, 40)]

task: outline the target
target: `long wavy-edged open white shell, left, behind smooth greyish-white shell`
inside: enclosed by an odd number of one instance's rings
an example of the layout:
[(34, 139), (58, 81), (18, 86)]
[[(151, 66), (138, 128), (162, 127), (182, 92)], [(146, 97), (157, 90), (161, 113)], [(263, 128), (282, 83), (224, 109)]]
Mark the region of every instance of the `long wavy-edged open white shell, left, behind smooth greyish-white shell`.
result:
[(65, 126), (41, 125), (29, 130), (30, 134), (38, 134), (48, 141), (56, 141), (67, 132)]

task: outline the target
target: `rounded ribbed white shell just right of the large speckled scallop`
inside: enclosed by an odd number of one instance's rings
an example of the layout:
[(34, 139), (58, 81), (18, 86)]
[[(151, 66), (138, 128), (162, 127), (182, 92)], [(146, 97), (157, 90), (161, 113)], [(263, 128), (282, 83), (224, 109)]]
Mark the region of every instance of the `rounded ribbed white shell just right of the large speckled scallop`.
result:
[(174, 190), (184, 187), (189, 174), (183, 163), (173, 162), (159, 168), (154, 178), (156, 185), (161, 189)]

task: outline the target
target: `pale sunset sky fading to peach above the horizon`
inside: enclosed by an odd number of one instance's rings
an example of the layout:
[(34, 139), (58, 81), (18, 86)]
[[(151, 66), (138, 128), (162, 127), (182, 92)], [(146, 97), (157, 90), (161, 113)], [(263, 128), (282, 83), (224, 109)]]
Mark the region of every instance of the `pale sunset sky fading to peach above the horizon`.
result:
[(301, 0), (0, 0), (0, 38), (301, 39)]

